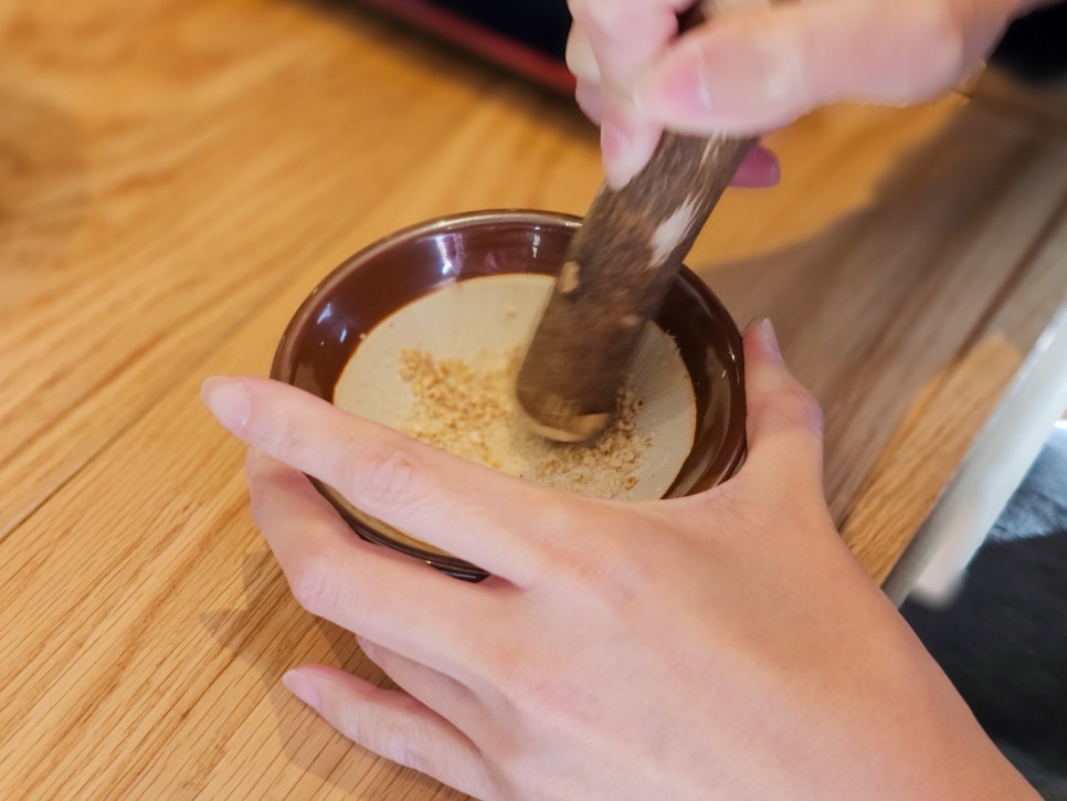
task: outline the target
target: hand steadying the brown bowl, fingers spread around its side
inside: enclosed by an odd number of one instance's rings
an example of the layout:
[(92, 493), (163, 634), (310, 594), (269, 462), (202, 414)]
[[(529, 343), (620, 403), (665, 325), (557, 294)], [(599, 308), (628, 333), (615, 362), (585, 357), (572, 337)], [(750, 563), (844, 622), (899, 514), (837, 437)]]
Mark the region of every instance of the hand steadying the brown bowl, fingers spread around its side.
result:
[[(599, 502), (462, 462), (293, 388), (214, 379), (297, 600), (402, 687), (285, 684), (356, 742), (487, 799), (1028, 797), (831, 524), (817, 405), (744, 342), (732, 479)], [(298, 471), (488, 569), (358, 539)]]

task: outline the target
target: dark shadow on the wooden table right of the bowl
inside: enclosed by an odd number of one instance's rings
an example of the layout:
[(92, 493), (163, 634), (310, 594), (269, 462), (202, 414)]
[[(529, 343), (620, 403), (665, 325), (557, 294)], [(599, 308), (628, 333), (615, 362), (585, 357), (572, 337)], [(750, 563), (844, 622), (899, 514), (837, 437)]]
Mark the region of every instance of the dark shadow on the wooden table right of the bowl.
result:
[[(739, 323), (774, 322), (791, 368), (822, 402), (838, 525), (906, 415), (966, 352), (1063, 214), (1064, 151), (1065, 143), (971, 104), (814, 235), (695, 265)], [(712, 217), (705, 235), (729, 231)], [(1029, 347), (1007, 344), (1020, 358)]]

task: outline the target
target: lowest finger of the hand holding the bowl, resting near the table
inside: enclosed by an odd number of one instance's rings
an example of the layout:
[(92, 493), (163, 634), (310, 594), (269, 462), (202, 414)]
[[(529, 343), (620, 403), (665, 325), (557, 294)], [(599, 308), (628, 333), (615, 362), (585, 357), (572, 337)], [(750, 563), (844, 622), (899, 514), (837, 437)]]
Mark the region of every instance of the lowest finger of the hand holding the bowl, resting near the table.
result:
[(402, 691), (326, 665), (289, 671), (283, 684), (353, 742), (476, 798), (492, 795), (482, 755), (448, 720)]

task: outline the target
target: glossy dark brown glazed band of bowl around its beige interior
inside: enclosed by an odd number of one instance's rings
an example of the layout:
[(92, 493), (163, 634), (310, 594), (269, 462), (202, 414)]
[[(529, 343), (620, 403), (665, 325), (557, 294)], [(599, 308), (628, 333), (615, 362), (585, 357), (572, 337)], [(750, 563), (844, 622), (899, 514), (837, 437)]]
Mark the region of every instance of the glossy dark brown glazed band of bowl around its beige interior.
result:
[[(508, 273), (554, 274), (578, 218), (543, 211), (478, 211), (398, 231), (330, 273), (289, 322), (272, 378), (332, 402), (342, 370), (377, 325), (453, 282)], [(744, 454), (741, 336), (711, 291), (683, 268), (656, 323), (678, 346), (696, 398), (689, 454), (665, 497), (691, 495), (730, 477)], [(334, 491), (313, 482), (365, 539), (416, 557), (457, 578), (485, 571), (392, 536), (356, 516)]]

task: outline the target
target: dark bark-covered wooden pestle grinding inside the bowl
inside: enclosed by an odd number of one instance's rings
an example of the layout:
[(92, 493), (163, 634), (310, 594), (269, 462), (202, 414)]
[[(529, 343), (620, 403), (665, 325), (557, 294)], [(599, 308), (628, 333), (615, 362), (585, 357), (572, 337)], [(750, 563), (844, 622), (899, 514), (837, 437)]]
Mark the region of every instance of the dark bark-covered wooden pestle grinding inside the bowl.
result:
[[(689, 12), (682, 28), (702, 19)], [(665, 133), (630, 183), (601, 187), (519, 370), (539, 433), (580, 442), (612, 418), (645, 324), (754, 141)]]

